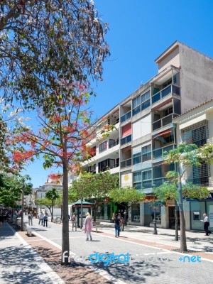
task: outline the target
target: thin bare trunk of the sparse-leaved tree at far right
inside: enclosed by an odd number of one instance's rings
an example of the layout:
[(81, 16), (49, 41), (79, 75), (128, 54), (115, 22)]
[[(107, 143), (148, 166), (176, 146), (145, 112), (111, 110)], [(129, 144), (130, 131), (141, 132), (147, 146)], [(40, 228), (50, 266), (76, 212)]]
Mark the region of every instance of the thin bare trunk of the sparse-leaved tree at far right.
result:
[(187, 243), (185, 236), (185, 217), (182, 204), (182, 183), (180, 175), (180, 165), (178, 164), (178, 206), (180, 209), (180, 251), (187, 251)]

